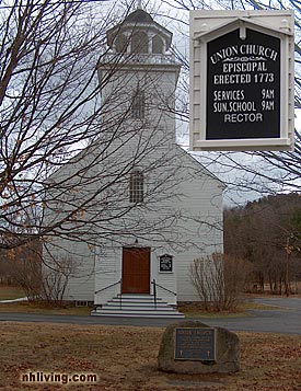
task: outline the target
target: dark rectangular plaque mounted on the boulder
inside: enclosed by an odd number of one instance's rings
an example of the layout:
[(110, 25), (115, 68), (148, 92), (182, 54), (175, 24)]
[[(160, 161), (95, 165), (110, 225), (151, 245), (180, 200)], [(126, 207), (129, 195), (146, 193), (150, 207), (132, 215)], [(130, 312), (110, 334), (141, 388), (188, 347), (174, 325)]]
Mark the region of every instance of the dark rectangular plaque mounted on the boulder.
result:
[(216, 360), (216, 331), (211, 327), (175, 329), (174, 359)]

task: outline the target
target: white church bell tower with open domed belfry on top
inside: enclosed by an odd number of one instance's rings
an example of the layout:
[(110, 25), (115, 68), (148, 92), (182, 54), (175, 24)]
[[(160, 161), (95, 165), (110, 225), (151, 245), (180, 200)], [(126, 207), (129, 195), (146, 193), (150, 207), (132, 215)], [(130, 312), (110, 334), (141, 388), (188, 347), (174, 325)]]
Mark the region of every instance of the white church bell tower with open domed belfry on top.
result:
[(159, 127), (175, 141), (175, 89), (181, 66), (171, 51), (172, 33), (139, 2), (121, 23), (107, 31), (106, 42), (107, 53), (99, 64), (103, 119), (108, 120), (114, 113), (127, 127), (140, 120), (143, 127)]

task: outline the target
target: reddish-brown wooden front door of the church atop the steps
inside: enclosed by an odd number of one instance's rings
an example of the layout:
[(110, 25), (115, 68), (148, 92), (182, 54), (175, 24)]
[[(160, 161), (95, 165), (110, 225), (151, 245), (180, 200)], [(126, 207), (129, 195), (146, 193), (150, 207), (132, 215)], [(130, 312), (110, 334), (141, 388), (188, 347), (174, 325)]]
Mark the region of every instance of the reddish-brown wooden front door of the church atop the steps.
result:
[(123, 294), (150, 294), (150, 248), (123, 249)]

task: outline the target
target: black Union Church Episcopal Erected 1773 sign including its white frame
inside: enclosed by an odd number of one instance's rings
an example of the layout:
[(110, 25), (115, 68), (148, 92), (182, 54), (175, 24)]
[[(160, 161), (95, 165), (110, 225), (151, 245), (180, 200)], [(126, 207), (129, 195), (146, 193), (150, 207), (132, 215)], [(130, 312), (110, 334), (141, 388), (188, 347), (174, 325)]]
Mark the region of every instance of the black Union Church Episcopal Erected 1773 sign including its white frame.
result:
[(293, 12), (190, 12), (190, 148), (293, 146)]

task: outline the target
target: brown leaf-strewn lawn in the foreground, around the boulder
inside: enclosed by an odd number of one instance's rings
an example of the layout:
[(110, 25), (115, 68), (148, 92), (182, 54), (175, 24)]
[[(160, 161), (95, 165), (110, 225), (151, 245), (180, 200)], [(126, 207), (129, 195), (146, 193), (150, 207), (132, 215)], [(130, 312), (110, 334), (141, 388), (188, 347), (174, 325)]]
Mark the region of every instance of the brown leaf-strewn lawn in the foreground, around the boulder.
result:
[[(238, 333), (241, 371), (227, 376), (160, 372), (157, 356), (164, 329), (0, 323), (0, 390), (301, 390), (298, 335)], [(25, 384), (22, 373), (95, 373), (97, 383)]]

